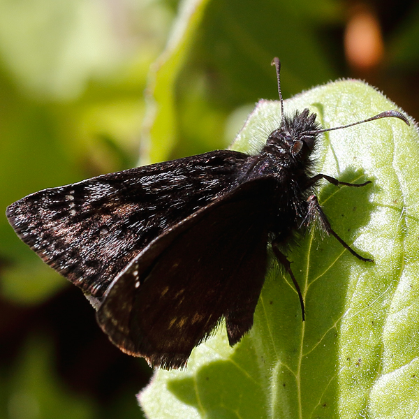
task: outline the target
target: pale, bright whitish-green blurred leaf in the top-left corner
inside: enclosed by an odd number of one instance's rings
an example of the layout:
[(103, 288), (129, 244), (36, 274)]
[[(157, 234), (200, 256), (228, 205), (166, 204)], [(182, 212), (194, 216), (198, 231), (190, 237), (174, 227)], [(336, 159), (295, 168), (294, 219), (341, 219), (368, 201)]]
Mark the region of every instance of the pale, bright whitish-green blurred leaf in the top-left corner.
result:
[(34, 96), (75, 98), (122, 59), (111, 13), (93, 1), (1, 1), (1, 64)]

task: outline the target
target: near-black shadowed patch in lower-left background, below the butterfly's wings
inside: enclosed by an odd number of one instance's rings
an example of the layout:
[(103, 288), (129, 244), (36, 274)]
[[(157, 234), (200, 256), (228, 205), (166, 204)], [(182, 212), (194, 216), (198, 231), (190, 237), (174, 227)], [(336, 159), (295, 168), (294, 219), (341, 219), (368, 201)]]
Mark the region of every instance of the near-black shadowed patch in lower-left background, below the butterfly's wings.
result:
[[(64, 279), (63, 279), (64, 280)], [(130, 357), (113, 346), (95, 320), (95, 311), (77, 288), (68, 287), (52, 300), (34, 308), (0, 302), (0, 370), (7, 382), (29, 337), (48, 337), (54, 358), (50, 363), (68, 392), (100, 406), (100, 417), (131, 395), (132, 409), (140, 416), (135, 394), (148, 383), (152, 370), (143, 359)], [(42, 385), (42, 383), (40, 383)], [(99, 417), (99, 416), (98, 416)]]

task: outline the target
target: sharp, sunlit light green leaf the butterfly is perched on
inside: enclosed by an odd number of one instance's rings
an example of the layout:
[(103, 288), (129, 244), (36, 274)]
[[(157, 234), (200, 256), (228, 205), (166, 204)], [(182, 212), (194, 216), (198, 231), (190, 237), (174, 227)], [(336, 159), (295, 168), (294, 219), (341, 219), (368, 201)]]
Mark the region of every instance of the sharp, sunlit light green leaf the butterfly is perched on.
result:
[[(372, 87), (339, 81), (285, 103), (325, 127), (397, 108)], [(277, 128), (279, 103), (260, 101), (233, 148), (256, 152)], [(419, 142), (395, 118), (326, 133), (316, 171), (332, 227), (374, 263), (315, 228), (291, 246), (307, 319), (290, 278), (272, 259), (254, 325), (230, 348), (225, 326), (184, 371), (159, 370), (139, 399), (149, 418), (411, 418), (419, 408)]]

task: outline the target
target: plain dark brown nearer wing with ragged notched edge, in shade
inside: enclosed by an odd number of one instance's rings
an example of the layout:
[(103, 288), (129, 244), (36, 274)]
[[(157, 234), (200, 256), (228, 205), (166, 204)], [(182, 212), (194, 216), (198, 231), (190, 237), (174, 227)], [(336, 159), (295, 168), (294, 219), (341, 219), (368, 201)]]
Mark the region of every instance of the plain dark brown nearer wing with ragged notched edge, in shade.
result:
[(273, 187), (270, 179), (242, 184), (149, 244), (96, 314), (114, 344), (177, 368), (223, 316), (230, 344), (239, 341), (265, 278)]

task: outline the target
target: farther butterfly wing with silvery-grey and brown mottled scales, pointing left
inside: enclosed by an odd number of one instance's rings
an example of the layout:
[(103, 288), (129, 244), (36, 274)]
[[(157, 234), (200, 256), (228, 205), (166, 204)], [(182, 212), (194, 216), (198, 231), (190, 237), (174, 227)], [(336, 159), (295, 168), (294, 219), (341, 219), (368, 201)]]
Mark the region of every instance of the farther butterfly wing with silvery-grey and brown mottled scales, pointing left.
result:
[(45, 189), (6, 211), (17, 235), (98, 304), (149, 242), (233, 185), (247, 154), (210, 152)]

